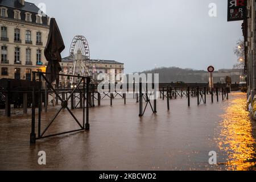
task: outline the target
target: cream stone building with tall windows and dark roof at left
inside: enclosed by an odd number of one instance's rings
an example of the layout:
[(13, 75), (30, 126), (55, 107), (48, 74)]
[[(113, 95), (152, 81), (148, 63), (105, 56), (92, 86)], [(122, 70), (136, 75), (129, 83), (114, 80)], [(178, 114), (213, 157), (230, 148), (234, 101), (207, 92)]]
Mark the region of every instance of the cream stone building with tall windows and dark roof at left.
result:
[(33, 71), (45, 71), (49, 17), (40, 12), (24, 0), (0, 1), (0, 78), (31, 80)]

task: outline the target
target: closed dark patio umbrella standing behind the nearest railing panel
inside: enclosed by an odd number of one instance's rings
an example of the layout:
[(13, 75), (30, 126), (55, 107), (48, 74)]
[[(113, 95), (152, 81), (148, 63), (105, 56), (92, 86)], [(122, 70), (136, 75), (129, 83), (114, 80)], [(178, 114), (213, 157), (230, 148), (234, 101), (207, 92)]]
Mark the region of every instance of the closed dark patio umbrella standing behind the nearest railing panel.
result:
[(55, 18), (51, 18), (49, 26), (49, 35), (44, 49), (44, 55), (48, 61), (46, 68), (46, 78), (52, 83), (56, 80), (57, 86), (59, 86), (59, 73), (62, 70), (60, 67), (61, 55), (60, 53), (65, 49), (65, 45), (57, 26)]

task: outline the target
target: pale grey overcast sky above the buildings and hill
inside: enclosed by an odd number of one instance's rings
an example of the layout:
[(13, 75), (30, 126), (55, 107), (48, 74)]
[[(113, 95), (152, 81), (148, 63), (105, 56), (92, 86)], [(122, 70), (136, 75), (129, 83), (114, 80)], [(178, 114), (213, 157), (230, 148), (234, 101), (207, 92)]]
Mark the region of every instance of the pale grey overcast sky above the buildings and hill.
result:
[[(91, 59), (125, 63), (125, 72), (156, 67), (232, 68), (241, 21), (227, 22), (226, 0), (27, 0), (46, 4), (65, 42), (89, 42)], [(217, 17), (210, 18), (209, 3)]]

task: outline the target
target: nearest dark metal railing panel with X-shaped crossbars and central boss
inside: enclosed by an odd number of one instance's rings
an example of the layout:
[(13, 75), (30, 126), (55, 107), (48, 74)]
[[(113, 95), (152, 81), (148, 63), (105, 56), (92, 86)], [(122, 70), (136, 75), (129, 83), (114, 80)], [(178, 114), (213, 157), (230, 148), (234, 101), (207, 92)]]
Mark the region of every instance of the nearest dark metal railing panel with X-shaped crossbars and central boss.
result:
[[(39, 87), (36, 87), (36, 75), (39, 76)], [(67, 99), (61, 98), (59, 96), (59, 93), (55, 88), (53, 88), (53, 85), (48, 81), (47, 79), (47, 73), (43, 72), (32, 72), (32, 82), (34, 83), (34, 87), (32, 88), (32, 122), (31, 122), (31, 134), (30, 134), (30, 143), (35, 143), (37, 139), (42, 138), (48, 138), (48, 137), (54, 137), (57, 135), (63, 135), (68, 133), (74, 133), (77, 131), (85, 131), (89, 130), (89, 100), (86, 98), (89, 98), (89, 84), (90, 84), (90, 77), (81, 77), (81, 76), (72, 76), (72, 75), (58, 75), (58, 76), (69, 76), (69, 77), (76, 77), (80, 81), (77, 84), (77, 87), (72, 89), (72, 92), (69, 94), (69, 97)], [(53, 115), (51, 121), (48, 123), (46, 128), (43, 130), (41, 129), (41, 115), (42, 115), (42, 83), (46, 82), (47, 88), (51, 89), (53, 93), (56, 94), (56, 97), (59, 101), (61, 101), (61, 107), (57, 111), (55, 115)], [(73, 97), (73, 94), (79, 91), (82, 95), (82, 123), (79, 122), (79, 120), (76, 118), (75, 114), (72, 113), (71, 109), (69, 109), (68, 101), (71, 100)], [(36, 137), (35, 133), (35, 121), (36, 121), (36, 115), (35, 115), (35, 94), (36, 92), (39, 93), (39, 107), (38, 107), (38, 137)], [(86, 100), (86, 103), (85, 103)], [(86, 111), (85, 111), (86, 108)], [(49, 134), (45, 135), (49, 127), (52, 125), (52, 123), (55, 121), (56, 117), (60, 114), (61, 110), (68, 110), (68, 113), (71, 114), (72, 118), (76, 121), (77, 125), (79, 125), (80, 129), (78, 130), (71, 130), (71, 131), (65, 131), (62, 133), (57, 134)]]

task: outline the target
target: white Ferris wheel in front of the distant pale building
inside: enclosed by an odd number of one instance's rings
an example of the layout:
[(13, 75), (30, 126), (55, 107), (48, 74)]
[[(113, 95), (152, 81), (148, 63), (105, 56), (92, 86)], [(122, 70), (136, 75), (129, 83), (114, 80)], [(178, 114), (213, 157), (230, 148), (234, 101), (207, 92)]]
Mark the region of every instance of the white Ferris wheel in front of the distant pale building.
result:
[[(69, 75), (73, 76), (88, 76), (88, 62), (90, 60), (90, 50), (89, 44), (84, 36), (76, 35), (73, 38), (70, 49), (69, 49), (69, 59), (71, 60), (72, 67), (69, 68)], [(72, 77), (72, 82), (76, 79)]]

